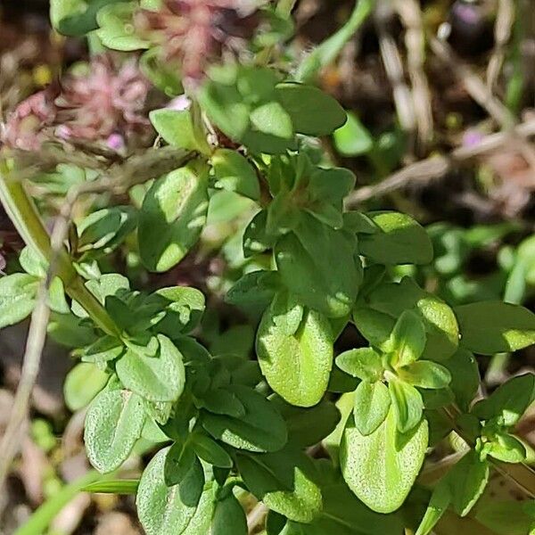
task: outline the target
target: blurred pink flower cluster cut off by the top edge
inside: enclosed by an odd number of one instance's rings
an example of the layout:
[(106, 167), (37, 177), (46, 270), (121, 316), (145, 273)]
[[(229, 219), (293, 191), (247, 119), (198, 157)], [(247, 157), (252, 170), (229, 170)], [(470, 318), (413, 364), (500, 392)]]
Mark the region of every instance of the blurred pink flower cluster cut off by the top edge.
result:
[(160, 11), (137, 13), (136, 28), (161, 45), (166, 59), (177, 60), (182, 78), (191, 83), (225, 48), (251, 37), (257, 11), (255, 0), (163, 0)]

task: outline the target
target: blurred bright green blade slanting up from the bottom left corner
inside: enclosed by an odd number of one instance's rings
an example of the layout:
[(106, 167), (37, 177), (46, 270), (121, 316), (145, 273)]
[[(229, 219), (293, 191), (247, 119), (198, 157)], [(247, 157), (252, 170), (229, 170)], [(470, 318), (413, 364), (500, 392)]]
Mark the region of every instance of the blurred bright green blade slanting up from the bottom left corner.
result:
[(23, 524), (13, 535), (38, 535), (39, 533), (45, 533), (53, 519), (70, 500), (78, 495), (78, 492), (81, 492), (87, 485), (101, 480), (103, 480), (103, 476), (96, 472), (96, 470), (91, 470), (78, 478), (78, 480), (65, 485), (62, 490), (54, 494), (51, 498), (48, 498), (42, 506), (38, 507), (35, 513), (29, 517), (28, 522)]

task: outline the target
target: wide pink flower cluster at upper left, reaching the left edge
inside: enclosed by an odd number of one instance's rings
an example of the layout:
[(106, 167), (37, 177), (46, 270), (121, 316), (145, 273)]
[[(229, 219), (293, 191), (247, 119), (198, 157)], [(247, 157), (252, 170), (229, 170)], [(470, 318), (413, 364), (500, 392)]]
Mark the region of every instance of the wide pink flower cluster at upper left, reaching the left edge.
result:
[(86, 73), (70, 74), (19, 104), (2, 141), (27, 151), (53, 138), (119, 150), (135, 139), (152, 137), (146, 114), (150, 87), (135, 61), (117, 69), (110, 56), (96, 56)]

